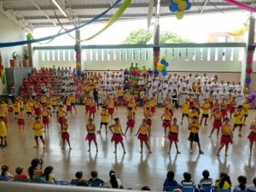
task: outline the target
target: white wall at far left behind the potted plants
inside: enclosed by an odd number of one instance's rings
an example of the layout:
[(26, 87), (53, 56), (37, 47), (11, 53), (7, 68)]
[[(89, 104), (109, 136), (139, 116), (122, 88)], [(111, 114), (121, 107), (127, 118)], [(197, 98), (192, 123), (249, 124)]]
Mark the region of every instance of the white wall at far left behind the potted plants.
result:
[[(8, 43), (15, 41), (26, 40), (26, 32), (20, 29), (19, 26), (0, 14), (0, 43)], [(8, 48), (0, 48), (3, 57), (3, 66), (9, 66), (10, 55), (16, 51), (19, 55), (22, 55), (23, 46), (15, 46)], [(19, 66), (21, 65), (21, 58), (19, 60)], [(0, 82), (0, 95), (6, 93), (6, 86)]]

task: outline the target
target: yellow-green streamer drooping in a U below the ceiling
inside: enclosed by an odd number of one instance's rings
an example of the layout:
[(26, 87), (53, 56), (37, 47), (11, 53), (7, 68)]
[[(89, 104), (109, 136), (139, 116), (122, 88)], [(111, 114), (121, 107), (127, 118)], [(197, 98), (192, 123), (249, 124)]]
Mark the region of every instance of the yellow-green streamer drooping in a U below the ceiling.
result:
[[(90, 36), (90, 38), (85, 38), (85, 39), (78, 39), (78, 38), (75, 38), (73, 37), (71, 34), (67, 33), (67, 35), (70, 37), (70, 38), (73, 38), (74, 40), (78, 41), (78, 42), (84, 42), (84, 41), (88, 41), (92, 38), (95, 38), (96, 36), (98, 36), (99, 34), (101, 34), (102, 32), (104, 32), (105, 30), (108, 29), (109, 26), (112, 26), (113, 23), (119, 19), (119, 17), (121, 15), (123, 15), (123, 13), (125, 12), (125, 9), (127, 9), (129, 7), (131, 3), (131, 0), (125, 0), (124, 3), (122, 3), (122, 5), (119, 7), (118, 11), (113, 15), (113, 17), (108, 21), (108, 24), (106, 26), (104, 26), (99, 32), (96, 32), (94, 35)], [(55, 13), (55, 10), (54, 10), (54, 13)], [(67, 29), (65, 29), (62, 24), (61, 24), (61, 21), (59, 20), (58, 16), (56, 15), (55, 13), (55, 17), (56, 17), (56, 20), (58, 20), (58, 23), (60, 24), (60, 26), (62, 27), (62, 29), (64, 29), (65, 31), (67, 31)]]

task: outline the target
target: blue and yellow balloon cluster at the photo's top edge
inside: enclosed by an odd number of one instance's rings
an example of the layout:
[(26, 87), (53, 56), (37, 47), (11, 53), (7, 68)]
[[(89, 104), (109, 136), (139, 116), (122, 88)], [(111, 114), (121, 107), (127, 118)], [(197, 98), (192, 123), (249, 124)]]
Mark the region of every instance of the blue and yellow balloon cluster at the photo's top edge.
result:
[(191, 8), (189, 0), (171, 0), (169, 9), (171, 12), (176, 12), (177, 20), (182, 20), (184, 11)]

